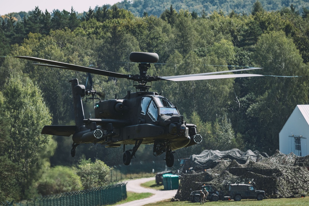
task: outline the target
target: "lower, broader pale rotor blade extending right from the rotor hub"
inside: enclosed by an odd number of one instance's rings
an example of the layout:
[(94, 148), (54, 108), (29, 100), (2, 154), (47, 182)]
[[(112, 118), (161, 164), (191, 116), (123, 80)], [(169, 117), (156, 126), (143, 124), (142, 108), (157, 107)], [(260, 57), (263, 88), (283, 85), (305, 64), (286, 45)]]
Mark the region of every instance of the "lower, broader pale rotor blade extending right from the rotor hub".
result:
[[(184, 75), (186, 76), (186, 75)], [(170, 81), (194, 81), (194, 80), (205, 80), (205, 79), (225, 79), (225, 78), (237, 78), (237, 77), (261, 77), (261, 74), (218, 74), (218, 75), (205, 75), (205, 76), (189, 76), (189, 77), (160, 77), (160, 79)]]

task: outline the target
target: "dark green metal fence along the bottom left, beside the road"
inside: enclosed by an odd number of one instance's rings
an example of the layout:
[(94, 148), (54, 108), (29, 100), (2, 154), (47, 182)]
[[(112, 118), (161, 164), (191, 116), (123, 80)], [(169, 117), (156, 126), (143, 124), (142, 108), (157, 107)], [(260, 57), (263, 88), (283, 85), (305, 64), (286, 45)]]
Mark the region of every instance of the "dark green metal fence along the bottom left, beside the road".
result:
[(2, 206), (98, 206), (116, 204), (127, 198), (125, 183), (96, 187), (88, 190), (48, 195), (23, 200), (19, 203), (2, 203)]

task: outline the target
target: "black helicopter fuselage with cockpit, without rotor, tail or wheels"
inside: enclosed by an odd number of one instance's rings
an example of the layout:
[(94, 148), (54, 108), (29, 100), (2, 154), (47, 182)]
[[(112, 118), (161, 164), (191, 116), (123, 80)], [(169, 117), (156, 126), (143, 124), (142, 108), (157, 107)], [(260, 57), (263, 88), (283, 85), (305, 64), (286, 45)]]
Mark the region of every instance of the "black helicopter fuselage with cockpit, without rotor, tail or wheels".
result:
[[(95, 119), (84, 122), (113, 132), (114, 135), (109, 135), (112, 138), (93, 139), (106, 147), (131, 145), (136, 140), (142, 140), (143, 144), (164, 140), (176, 150), (189, 144), (189, 128), (195, 132), (195, 125), (189, 124), (188, 128), (177, 108), (156, 92), (128, 92), (123, 99), (99, 101), (94, 109)], [(75, 138), (73, 141), (87, 143), (89, 140)]]

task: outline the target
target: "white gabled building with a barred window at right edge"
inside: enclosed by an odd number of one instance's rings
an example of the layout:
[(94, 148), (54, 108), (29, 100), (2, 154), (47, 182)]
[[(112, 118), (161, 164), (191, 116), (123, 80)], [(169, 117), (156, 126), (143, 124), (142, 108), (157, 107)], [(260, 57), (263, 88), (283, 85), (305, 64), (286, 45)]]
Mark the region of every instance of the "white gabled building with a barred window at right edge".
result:
[(279, 133), (279, 150), (309, 155), (309, 105), (297, 105)]

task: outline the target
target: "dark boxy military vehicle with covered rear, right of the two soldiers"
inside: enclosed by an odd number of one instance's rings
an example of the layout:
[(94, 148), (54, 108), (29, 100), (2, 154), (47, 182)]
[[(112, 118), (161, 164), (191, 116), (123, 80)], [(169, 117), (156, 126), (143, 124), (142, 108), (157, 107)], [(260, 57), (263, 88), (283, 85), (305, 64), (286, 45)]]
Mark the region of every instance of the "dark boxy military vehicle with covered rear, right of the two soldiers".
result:
[(235, 201), (240, 201), (241, 199), (263, 200), (265, 191), (256, 190), (254, 186), (248, 184), (229, 184), (228, 195)]

